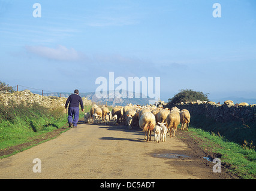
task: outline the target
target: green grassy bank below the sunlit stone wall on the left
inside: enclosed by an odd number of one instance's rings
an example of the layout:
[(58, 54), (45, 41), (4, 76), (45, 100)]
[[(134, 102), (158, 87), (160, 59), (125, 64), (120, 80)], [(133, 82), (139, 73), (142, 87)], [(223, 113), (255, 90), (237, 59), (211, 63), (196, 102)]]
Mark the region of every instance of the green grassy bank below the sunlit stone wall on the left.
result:
[(28, 143), (31, 137), (62, 128), (66, 124), (61, 108), (46, 109), (39, 104), (0, 105), (0, 149)]

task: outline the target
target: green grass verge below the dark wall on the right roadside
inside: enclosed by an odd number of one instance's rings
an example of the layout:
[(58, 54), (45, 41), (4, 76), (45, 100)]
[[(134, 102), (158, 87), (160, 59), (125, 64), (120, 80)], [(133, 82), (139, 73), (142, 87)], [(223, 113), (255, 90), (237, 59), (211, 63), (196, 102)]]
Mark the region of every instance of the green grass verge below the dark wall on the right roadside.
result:
[(225, 137), (194, 128), (189, 127), (192, 137), (200, 138), (203, 143), (202, 149), (210, 149), (212, 152), (221, 153), (221, 163), (230, 165), (230, 171), (233, 174), (239, 175), (245, 179), (256, 178), (256, 153), (254, 147), (250, 144), (240, 145), (228, 141)]

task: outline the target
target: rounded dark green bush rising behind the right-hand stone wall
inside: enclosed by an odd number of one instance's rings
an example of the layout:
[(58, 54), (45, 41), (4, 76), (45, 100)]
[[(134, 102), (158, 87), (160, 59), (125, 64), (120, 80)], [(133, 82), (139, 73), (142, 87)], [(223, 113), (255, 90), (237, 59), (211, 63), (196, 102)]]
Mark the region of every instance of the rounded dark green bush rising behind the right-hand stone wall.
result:
[(168, 99), (168, 104), (173, 105), (180, 102), (186, 101), (209, 101), (207, 94), (204, 94), (201, 91), (194, 91), (194, 90), (180, 90), (173, 98)]

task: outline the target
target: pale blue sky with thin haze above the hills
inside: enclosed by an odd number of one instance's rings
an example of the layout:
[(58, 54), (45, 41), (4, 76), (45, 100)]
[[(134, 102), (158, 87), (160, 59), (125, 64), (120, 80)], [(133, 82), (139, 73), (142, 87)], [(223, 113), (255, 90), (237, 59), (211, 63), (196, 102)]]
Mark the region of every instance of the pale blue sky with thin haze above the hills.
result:
[(115, 72), (160, 77), (165, 101), (186, 88), (256, 98), (256, 1), (0, 0), (0, 57), (12, 86), (86, 93)]

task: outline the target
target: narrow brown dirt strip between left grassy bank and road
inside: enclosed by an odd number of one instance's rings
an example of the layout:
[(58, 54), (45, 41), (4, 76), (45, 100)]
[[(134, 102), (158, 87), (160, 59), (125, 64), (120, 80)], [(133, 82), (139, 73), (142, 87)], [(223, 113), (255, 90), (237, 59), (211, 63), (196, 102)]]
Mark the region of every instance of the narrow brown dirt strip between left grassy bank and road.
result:
[(63, 131), (67, 131), (67, 127), (65, 128), (58, 128), (56, 130), (50, 131), (48, 133), (45, 134), (41, 134), (35, 137), (31, 137), (29, 138), (27, 143), (22, 143), (22, 144), (18, 144), (16, 146), (11, 146), (8, 147), (6, 149), (1, 149), (0, 150), (0, 156), (5, 156), (5, 155), (11, 155), (14, 152), (19, 152), (20, 150), (24, 150), (27, 149), (33, 145), (37, 145), (39, 143), (41, 143), (42, 141), (46, 141), (49, 140), (51, 138), (57, 137), (58, 135), (60, 135)]

